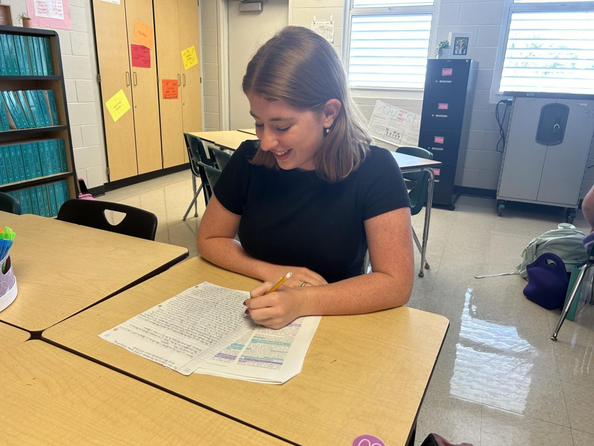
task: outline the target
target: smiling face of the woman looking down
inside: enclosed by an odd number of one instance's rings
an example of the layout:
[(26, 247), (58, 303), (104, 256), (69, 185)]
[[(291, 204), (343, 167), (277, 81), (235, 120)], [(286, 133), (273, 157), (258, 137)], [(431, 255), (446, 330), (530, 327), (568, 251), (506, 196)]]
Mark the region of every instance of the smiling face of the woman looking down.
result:
[(273, 153), (281, 169), (314, 170), (324, 129), (330, 127), (334, 116), (328, 116), (325, 109), (302, 110), (284, 100), (267, 100), (252, 92), (247, 96), (260, 148)]

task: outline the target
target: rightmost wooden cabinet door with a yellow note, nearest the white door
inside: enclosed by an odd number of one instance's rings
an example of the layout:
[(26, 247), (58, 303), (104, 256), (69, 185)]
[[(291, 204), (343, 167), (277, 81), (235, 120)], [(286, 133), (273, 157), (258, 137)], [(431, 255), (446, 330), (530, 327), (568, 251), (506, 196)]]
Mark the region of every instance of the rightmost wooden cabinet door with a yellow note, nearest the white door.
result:
[[(185, 70), (180, 60), (182, 73), (182, 118), (184, 131), (202, 131), (202, 92), (200, 78), (200, 23), (197, 0), (178, 0), (179, 48), (180, 51), (194, 45), (198, 64)], [(188, 154), (185, 153), (185, 162)]]

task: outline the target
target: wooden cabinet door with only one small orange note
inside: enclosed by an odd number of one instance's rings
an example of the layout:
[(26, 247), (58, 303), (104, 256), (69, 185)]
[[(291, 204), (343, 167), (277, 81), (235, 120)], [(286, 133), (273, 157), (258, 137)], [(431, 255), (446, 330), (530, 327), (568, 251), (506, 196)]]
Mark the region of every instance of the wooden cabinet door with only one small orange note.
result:
[[(182, 76), (179, 70), (178, 8), (176, 2), (154, 0), (154, 27), (157, 44), (157, 74), (159, 74), (159, 110), (163, 167), (184, 164), (186, 152), (182, 125)], [(198, 27), (198, 23), (194, 24)], [(163, 99), (163, 79), (178, 81), (178, 98)]]

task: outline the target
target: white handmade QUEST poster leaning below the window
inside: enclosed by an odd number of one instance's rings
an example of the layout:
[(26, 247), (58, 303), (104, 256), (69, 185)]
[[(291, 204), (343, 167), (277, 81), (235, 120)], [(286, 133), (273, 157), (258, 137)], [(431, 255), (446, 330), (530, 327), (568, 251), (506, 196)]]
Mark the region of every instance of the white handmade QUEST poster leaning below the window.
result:
[(418, 146), (421, 117), (381, 100), (375, 102), (369, 120), (369, 131), (374, 139), (397, 146)]

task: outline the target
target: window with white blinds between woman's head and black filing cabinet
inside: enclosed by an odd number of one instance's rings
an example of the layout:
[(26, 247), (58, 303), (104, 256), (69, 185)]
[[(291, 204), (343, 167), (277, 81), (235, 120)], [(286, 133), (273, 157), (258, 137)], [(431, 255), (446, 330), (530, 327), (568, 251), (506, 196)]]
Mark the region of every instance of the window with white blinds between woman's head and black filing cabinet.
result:
[(347, 70), (355, 88), (422, 89), (433, 0), (352, 0)]

